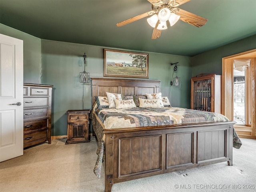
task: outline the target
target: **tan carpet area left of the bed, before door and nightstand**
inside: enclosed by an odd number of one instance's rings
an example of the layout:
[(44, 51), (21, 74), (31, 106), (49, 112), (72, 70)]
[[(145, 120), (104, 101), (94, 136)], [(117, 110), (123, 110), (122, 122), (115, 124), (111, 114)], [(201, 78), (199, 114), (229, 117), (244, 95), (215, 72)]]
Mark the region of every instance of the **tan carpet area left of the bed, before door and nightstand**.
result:
[[(52, 140), (24, 150), (23, 156), (0, 163), (1, 192), (103, 192), (104, 177), (94, 175), (95, 139), (68, 144)], [(104, 175), (104, 172), (103, 172)]]

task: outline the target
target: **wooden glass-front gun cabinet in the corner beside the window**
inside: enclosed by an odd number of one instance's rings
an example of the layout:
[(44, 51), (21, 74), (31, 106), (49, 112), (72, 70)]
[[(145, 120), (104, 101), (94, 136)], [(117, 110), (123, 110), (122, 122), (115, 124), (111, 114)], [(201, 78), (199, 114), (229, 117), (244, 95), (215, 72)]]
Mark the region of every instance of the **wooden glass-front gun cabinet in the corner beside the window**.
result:
[(200, 74), (191, 78), (190, 107), (221, 113), (221, 75)]

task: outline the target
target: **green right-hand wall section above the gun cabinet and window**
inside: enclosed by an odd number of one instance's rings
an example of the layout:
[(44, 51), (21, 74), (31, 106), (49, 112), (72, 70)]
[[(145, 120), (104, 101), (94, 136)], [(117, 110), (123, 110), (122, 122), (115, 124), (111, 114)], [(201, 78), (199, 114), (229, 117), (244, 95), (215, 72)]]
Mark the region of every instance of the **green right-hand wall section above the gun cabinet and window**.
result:
[(192, 57), (192, 76), (201, 73), (222, 75), (222, 58), (256, 48), (256, 35)]

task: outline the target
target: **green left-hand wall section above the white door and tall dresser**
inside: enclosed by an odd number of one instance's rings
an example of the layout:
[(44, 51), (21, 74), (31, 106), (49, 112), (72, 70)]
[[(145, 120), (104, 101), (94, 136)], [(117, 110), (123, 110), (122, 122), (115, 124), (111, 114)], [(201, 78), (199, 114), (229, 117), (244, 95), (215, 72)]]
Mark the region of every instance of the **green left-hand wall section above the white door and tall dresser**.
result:
[(3, 24), (0, 33), (23, 40), (24, 83), (41, 84), (41, 39)]

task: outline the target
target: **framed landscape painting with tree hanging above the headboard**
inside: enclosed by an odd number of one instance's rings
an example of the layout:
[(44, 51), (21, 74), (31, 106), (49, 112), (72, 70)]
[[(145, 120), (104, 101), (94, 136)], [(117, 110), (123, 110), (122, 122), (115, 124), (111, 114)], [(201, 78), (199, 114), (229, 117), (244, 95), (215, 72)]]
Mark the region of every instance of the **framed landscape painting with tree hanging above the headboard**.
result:
[(104, 77), (148, 78), (148, 54), (103, 49)]

